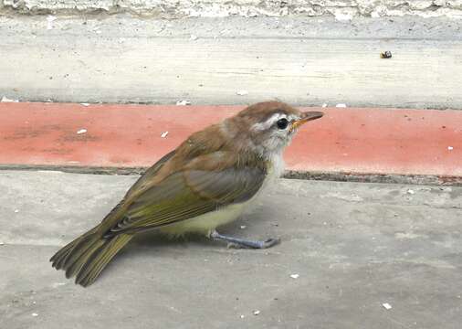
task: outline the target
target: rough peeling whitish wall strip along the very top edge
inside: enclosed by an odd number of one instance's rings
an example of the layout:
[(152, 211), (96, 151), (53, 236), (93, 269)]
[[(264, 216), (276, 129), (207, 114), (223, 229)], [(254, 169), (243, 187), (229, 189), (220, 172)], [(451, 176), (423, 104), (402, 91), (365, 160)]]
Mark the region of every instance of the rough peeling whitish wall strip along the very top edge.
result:
[[(2, 5), (3, 2), (3, 5)], [(462, 0), (0, 0), (17, 13), (130, 12), (142, 16), (453, 16)]]

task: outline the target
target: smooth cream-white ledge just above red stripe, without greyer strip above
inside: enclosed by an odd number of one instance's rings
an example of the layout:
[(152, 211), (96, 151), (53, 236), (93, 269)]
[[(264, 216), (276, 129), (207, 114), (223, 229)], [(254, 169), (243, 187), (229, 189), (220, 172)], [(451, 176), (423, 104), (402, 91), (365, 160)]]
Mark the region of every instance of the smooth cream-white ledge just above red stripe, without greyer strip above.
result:
[[(49, 33), (37, 37), (0, 32), (0, 71), (9, 77), (0, 80), (0, 97), (157, 104), (278, 98), (318, 106), (462, 109), (462, 40), (199, 35), (186, 40), (44, 31)], [(393, 57), (380, 58), (385, 50)], [(21, 70), (10, 65), (16, 62)], [(236, 94), (239, 90), (247, 95)]]

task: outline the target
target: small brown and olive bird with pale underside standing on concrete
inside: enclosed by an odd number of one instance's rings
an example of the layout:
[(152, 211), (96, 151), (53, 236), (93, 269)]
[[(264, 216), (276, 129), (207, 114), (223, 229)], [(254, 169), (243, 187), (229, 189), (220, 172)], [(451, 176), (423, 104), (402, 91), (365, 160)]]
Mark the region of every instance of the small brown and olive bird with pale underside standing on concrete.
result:
[(100, 224), (59, 249), (52, 266), (87, 287), (134, 236), (150, 230), (170, 237), (198, 233), (250, 249), (278, 244), (216, 228), (238, 218), (282, 174), (285, 147), (303, 123), (322, 115), (263, 101), (191, 134), (147, 169)]

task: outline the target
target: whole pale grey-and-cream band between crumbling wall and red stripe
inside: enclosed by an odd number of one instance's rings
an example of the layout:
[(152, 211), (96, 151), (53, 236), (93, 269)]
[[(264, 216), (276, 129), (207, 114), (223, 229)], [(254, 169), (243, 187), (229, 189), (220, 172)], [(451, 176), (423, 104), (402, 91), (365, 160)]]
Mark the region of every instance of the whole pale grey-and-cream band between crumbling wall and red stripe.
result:
[[(0, 17), (0, 97), (462, 108), (462, 20)], [(392, 51), (393, 58), (380, 53)]]

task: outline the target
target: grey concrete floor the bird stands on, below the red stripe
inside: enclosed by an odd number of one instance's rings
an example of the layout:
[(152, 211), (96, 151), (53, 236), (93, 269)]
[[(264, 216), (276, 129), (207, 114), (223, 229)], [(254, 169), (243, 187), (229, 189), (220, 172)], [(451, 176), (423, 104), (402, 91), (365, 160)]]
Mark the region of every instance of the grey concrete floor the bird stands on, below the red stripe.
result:
[(0, 172), (2, 327), (460, 327), (460, 187), (280, 180), (222, 229), (275, 248), (150, 234), (93, 286), (64, 279), (48, 258), (135, 179)]

